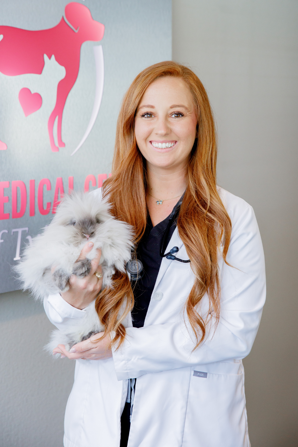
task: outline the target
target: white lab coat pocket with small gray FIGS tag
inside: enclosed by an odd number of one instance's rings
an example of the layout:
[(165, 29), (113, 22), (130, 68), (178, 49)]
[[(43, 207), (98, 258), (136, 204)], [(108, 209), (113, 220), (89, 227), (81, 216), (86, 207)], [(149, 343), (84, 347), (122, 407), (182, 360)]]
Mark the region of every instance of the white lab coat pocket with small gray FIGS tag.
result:
[(241, 363), (192, 368), (183, 447), (249, 447), (243, 385)]

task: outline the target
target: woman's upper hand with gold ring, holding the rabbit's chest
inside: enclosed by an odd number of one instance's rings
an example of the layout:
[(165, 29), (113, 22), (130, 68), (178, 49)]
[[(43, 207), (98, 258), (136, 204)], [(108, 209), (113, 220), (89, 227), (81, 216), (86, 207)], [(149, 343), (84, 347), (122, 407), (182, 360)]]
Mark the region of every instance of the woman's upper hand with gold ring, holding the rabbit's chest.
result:
[[(92, 250), (93, 242), (88, 242), (82, 249), (77, 261), (85, 259), (86, 255)], [(102, 278), (98, 279), (95, 272), (101, 273), (99, 261), (101, 259), (101, 250), (97, 249), (97, 256), (91, 261), (91, 271), (84, 278), (71, 275), (69, 279), (69, 290), (61, 293), (61, 296), (67, 303), (77, 309), (86, 308), (97, 297), (101, 290)]]

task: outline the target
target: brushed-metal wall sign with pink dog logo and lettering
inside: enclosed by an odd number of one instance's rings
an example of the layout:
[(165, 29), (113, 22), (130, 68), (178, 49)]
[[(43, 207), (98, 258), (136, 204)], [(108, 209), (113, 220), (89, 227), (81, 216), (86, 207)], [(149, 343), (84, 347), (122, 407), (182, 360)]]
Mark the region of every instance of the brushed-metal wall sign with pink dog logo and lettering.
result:
[[(171, 59), (171, 0), (0, 4), (0, 293), (63, 194), (110, 175), (119, 105)], [(162, 26), (160, 26), (162, 23)]]

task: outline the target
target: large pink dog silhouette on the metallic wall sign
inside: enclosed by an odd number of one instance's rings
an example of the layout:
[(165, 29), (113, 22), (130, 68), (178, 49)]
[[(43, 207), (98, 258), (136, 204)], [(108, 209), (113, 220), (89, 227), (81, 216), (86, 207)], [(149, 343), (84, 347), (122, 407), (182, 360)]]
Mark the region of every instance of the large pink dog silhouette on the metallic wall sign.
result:
[[(74, 31), (62, 17), (54, 28), (28, 31), (12, 26), (0, 26), (0, 72), (8, 76), (27, 73), (41, 74), (44, 67), (44, 54), (65, 67), (66, 75), (57, 87), (56, 105), (48, 121), (50, 145), (53, 152), (59, 151), (53, 138), (53, 126), (58, 116), (58, 145), (64, 148), (61, 138), (62, 114), (68, 93), (71, 91), (80, 67), (80, 48), (88, 40), (103, 38), (105, 26), (92, 19), (87, 6), (71, 2), (65, 7), (65, 17)], [(0, 149), (6, 149), (0, 141)]]

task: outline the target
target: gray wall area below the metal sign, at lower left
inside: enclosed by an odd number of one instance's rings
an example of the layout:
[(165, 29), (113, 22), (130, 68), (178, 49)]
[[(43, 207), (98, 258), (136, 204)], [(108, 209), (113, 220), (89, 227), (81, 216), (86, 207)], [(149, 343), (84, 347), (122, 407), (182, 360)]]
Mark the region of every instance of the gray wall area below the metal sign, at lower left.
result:
[(0, 295), (0, 446), (62, 447), (75, 364), (43, 351), (53, 325), (21, 291)]

